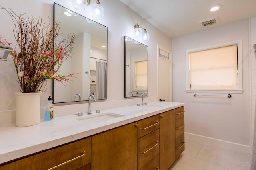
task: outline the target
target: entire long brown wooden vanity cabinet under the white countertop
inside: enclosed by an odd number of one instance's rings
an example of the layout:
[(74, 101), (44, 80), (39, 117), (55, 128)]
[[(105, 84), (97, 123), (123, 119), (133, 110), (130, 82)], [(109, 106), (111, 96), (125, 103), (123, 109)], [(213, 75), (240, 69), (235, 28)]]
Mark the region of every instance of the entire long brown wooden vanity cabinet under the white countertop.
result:
[(1, 164), (0, 169), (48, 170), (60, 165), (54, 169), (168, 170), (184, 144), (182, 106)]

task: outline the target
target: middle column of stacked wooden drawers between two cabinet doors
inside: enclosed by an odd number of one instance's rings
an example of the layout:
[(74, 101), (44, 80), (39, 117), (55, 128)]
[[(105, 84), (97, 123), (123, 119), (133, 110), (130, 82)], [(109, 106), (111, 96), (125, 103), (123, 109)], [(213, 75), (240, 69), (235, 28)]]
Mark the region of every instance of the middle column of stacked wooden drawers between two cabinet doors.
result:
[(159, 115), (138, 121), (138, 170), (159, 169)]

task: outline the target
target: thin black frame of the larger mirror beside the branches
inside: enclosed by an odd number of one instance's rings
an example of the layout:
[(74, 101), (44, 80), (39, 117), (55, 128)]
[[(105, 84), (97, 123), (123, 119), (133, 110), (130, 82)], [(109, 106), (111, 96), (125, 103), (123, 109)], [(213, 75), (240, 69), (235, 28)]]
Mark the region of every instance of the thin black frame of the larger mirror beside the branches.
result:
[[(58, 3), (56, 3), (56, 2), (54, 2), (54, 8), (53, 8), (53, 24), (56, 22), (56, 17), (55, 17), (55, 15), (56, 15), (56, 12), (55, 12), (55, 8), (56, 8), (56, 5), (58, 5), (58, 6), (60, 6), (60, 7), (62, 7), (62, 8), (66, 8), (66, 7), (64, 7), (64, 6), (62, 6), (62, 5), (60, 5), (60, 4), (58, 4)], [(66, 8), (66, 9), (68, 9), (68, 8)], [(68, 9), (68, 10), (70, 10), (70, 9)], [(70, 10), (70, 11), (72, 11), (72, 10)], [(74, 11), (72, 11), (72, 12), (74, 12)], [(81, 17), (83, 17), (83, 18), (85, 18), (85, 20), (91, 20), (91, 19), (89, 19), (89, 18), (87, 18), (87, 17), (85, 17), (85, 16), (82, 16), (82, 15), (80, 15), (80, 14), (78, 14), (78, 13), (76, 13), (76, 12), (74, 12), (75, 14), (77, 14), (78, 16), (81, 16)], [(93, 21), (93, 20), (91, 20), (91, 21)], [(102, 24), (100, 24), (100, 23), (98, 23), (98, 22), (96, 22), (96, 21), (94, 21), (95, 23), (97, 23), (97, 24), (99, 24), (99, 25), (101, 25), (101, 26), (104, 26), (104, 27), (106, 27), (105, 25), (102, 25)], [(60, 25), (60, 28), (61, 28), (61, 25)], [(72, 31), (70, 31), (70, 33), (72, 33)], [(76, 38), (76, 37), (75, 37)], [(71, 53), (72, 53), (72, 51), (71, 51)], [(91, 57), (91, 58), (93, 58), (93, 59), (96, 59), (95, 57)], [(102, 59), (97, 59), (97, 61), (98, 60), (102, 60)], [(108, 72), (108, 69), (107, 69), (107, 66), (108, 66), (108, 27), (106, 27), (106, 98), (103, 98), (103, 99), (97, 99), (97, 100), (106, 100), (107, 99), (107, 96), (108, 96), (108, 94), (107, 94), (107, 84), (108, 84), (108, 75), (107, 75), (107, 72)], [(90, 70), (90, 69), (89, 69)], [(82, 74), (82, 73), (81, 73)], [(52, 80), (53, 81), (53, 83), (52, 83), (52, 100), (53, 100), (53, 103), (54, 104), (60, 104), (60, 103), (70, 103), (70, 102), (85, 102), (85, 101), (88, 101), (88, 96), (86, 96), (85, 97), (85, 99), (86, 100), (72, 100), (72, 101), (64, 101), (64, 102), (55, 102), (54, 101), (54, 89), (55, 89), (55, 86), (54, 86), (54, 82), (55, 82), (55, 80)], [(89, 80), (89, 82), (90, 82), (90, 80)], [(89, 94), (90, 94), (90, 92), (89, 92)]]

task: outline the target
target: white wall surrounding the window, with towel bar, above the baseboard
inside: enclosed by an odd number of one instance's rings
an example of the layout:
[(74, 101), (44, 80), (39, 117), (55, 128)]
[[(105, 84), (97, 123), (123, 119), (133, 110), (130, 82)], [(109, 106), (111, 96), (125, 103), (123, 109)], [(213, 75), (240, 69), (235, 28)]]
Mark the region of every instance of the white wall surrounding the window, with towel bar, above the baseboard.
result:
[[(249, 20), (172, 39), (173, 101), (185, 102), (185, 131), (217, 141), (250, 148), (250, 51)], [(186, 93), (185, 51), (242, 39), (243, 93), (232, 98), (193, 97)]]

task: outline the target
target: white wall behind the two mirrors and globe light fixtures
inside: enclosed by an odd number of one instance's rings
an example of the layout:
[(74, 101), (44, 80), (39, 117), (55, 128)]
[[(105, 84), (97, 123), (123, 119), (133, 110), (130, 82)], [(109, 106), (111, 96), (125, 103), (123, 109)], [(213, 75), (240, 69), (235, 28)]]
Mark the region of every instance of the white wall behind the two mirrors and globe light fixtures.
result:
[[(71, 0), (1, 0), (0, 4), (9, 7), (16, 14), (24, 14), (26, 16), (35, 16), (42, 18), (43, 22), (48, 23), (48, 16), (53, 20), (53, 3), (56, 2), (66, 8), (70, 8), (81, 15), (93, 20), (90, 15), (90, 8), (95, 4), (95, 0), (91, 1), (91, 5), (84, 11), (75, 10), (71, 4)], [(133, 29), (136, 23), (147, 29), (150, 34), (148, 45), (148, 95), (145, 102), (158, 100), (157, 96), (157, 50), (156, 45), (160, 44), (166, 49), (171, 47), (171, 39), (160, 32), (156, 27), (148, 23), (144, 18), (136, 14), (125, 4), (119, 0), (101, 0), (104, 7), (105, 16), (103, 20), (98, 21), (102, 25), (108, 27), (108, 99), (103, 102), (92, 103), (92, 111), (96, 109), (107, 109), (112, 107), (121, 107), (141, 102), (140, 98), (124, 99), (124, 35), (133, 37)], [(0, 10), (0, 34), (4, 36), (13, 46), (16, 45), (12, 28), (14, 24), (10, 16)], [(139, 39), (136, 39), (140, 41)], [(9, 56), (8, 61), (0, 61), (0, 124), (8, 125), (15, 123), (16, 117), (16, 96), (15, 92), (19, 92), (20, 88), (16, 82), (14, 73), (14, 64)], [(41, 106), (47, 100), (47, 95), (52, 95), (52, 82), (48, 81), (47, 90), (41, 96)], [(82, 104), (65, 104), (54, 108), (55, 116), (70, 115), (78, 112), (85, 112), (88, 109), (87, 103)]]

